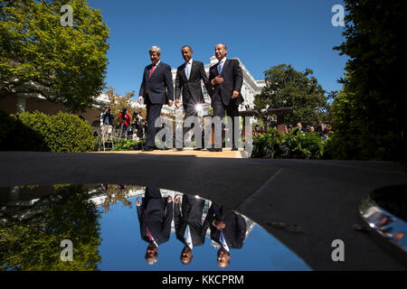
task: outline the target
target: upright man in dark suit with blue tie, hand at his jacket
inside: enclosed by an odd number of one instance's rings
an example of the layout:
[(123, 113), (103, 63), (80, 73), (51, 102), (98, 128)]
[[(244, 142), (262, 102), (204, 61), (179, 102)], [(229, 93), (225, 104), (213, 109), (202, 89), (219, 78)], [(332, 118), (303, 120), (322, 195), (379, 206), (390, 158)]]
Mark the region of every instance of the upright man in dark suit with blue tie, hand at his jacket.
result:
[[(213, 116), (224, 118), (225, 112), (232, 117), (232, 131), (234, 134), (234, 117), (239, 117), (239, 105), (244, 101), (241, 97), (243, 74), (238, 60), (226, 59), (228, 50), (219, 43), (215, 46), (215, 57), (219, 61), (209, 69), (209, 81), (213, 86), (211, 91), (211, 105)], [(237, 144), (232, 137), (232, 150), (237, 150)], [(209, 148), (212, 152), (221, 152), (221, 148)]]

